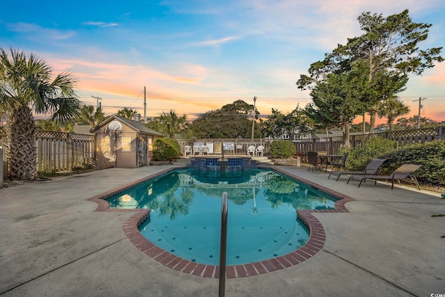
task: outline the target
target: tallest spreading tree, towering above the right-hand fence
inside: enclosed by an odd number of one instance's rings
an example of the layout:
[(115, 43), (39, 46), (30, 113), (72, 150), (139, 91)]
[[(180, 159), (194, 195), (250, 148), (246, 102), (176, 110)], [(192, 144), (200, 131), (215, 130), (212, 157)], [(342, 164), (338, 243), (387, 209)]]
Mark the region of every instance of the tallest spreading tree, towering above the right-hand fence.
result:
[[(432, 24), (412, 22), (408, 10), (388, 17), (362, 13), (357, 20), (364, 34), (348, 38), (346, 45), (338, 45), (332, 52), (325, 54), (323, 61), (312, 63), (309, 75), (300, 75), (297, 86), (300, 89), (313, 88), (328, 74), (348, 72), (354, 63), (363, 61), (369, 69), (369, 88), (372, 88), (368, 101), (374, 102), (369, 108), (372, 132), (378, 111), (376, 106), (380, 101), (390, 98), (387, 96), (385, 81), (378, 80), (387, 76), (389, 81), (401, 81), (409, 74), (420, 75), (444, 59), (439, 55), (442, 47), (420, 47), (419, 43), (428, 38)], [(395, 92), (400, 90), (394, 88)]]

